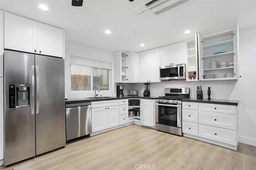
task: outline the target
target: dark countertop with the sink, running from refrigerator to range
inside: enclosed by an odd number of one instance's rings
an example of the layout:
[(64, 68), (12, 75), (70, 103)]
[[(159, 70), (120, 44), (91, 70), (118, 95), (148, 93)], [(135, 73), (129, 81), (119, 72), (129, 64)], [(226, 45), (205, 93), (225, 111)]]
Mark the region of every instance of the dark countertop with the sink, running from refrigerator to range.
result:
[(73, 103), (85, 103), (85, 102), (94, 102), (94, 101), (106, 101), (106, 100), (120, 100), (120, 99), (156, 99), (158, 96), (122, 96), (122, 97), (112, 97), (108, 99), (88, 99), (88, 98), (74, 98), (65, 100), (65, 104), (73, 104)]

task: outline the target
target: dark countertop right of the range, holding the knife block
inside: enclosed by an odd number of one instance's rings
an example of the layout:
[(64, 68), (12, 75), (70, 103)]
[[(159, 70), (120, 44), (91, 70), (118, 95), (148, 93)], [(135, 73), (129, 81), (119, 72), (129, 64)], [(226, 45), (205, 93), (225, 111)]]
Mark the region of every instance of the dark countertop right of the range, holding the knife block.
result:
[(239, 103), (238, 100), (211, 99), (210, 101), (208, 101), (208, 99), (196, 99), (196, 98), (182, 99), (182, 101), (212, 103), (212, 104), (220, 104), (220, 105), (235, 105), (235, 106), (237, 106)]

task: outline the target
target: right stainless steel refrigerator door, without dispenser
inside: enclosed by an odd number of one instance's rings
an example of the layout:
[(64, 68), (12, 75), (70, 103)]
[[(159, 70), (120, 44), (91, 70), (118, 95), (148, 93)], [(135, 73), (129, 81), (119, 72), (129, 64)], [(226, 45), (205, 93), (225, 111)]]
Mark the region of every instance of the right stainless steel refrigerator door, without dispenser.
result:
[(36, 155), (66, 145), (64, 59), (36, 55)]

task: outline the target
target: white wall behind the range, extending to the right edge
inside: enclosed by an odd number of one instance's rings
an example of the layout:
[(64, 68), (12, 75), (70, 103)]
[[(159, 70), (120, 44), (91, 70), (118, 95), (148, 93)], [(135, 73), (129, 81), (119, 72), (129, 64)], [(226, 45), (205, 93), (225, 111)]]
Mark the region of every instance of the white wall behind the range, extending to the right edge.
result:
[[(256, 28), (239, 32), (239, 67), (238, 80), (226, 81), (166, 81), (150, 83), (150, 95), (163, 96), (165, 87), (189, 87), (190, 97), (196, 97), (196, 86), (202, 85), (203, 97), (208, 98), (207, 90), (211, 87), (212, 99), (239, 100), (238, 132), (239, 142), (256, 146)], [(144, 84), (133, 84), (139, 95), (144, 92)]]

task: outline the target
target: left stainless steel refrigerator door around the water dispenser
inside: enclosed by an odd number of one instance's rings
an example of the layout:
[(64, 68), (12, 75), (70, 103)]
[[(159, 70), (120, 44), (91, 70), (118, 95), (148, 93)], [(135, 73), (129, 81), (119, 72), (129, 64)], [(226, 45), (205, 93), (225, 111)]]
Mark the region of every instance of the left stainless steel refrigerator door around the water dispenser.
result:
[[(35, 116), (34, 99), (34, 54), (4, 50), (4, 165), (9, 165), (35, 156)], [(30, 87), (27, 99), (30, 105), (18, 105), (19, 93), (15, 102), (9, 100), (9, 85), (15, 92), (21, 84)], [(17, 86), (16, 86), (17, 85)], [(12, 102), (11, 102), (12, 101)], [(21, 102), (26, 100), (20, 100)], [(10, 103), (9, 103), (10, 102)], [(14, 108), (10, 104), (14, 103)]]

